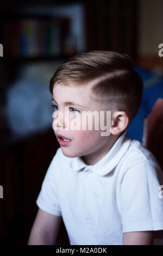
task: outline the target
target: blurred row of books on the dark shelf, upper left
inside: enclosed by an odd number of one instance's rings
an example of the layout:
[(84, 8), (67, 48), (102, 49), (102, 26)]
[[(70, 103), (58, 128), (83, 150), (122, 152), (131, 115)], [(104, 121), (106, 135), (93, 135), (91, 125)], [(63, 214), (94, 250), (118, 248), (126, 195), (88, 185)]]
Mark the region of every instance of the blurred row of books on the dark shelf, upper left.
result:
[(66, 17), (1, 17), (1, 42), (7, 58), (41, 59), (68, 55), (68, 33), (69, 20)]

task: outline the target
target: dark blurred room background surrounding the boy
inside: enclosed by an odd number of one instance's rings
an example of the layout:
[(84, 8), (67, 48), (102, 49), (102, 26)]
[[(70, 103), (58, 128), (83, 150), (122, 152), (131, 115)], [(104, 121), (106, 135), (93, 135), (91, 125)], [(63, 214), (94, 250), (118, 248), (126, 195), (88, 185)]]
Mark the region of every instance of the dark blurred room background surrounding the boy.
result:
[[(161, 0), (1, 3), (0, 243), (27, 244), (35, 201), (59, 148), (49, 81), (66, 58), (91, 50), (133, 58), (145, 88), (126, 136), (142, 142), (143, 121), (163, 98), (162, 10)], [(69, 244), (64, 223), (57, 244)]]

